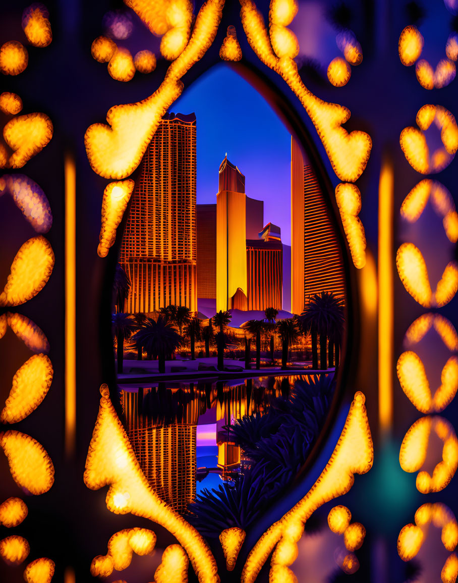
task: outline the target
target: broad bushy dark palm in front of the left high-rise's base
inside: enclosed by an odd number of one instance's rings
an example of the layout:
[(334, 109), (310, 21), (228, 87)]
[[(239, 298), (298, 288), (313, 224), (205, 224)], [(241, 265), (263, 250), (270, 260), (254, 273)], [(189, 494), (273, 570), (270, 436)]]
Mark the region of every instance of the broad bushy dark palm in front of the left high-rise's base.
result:
[(160, 373), (165, 373), (165, 357), (171, 356), (182, 343), (181, 336), (163, 315), (158, 316), (157, 321), (148, 318), (132, 340), (145, 349), (149, 358), (157, 354)]

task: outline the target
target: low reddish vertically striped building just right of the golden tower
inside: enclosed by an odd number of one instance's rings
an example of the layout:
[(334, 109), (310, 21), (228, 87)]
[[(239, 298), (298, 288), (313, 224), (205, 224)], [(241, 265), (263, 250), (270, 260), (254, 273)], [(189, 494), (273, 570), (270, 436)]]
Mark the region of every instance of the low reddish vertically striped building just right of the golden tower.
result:
[(248, 310), (282, 309), (283, 245), (281, 241), (246, 240)]

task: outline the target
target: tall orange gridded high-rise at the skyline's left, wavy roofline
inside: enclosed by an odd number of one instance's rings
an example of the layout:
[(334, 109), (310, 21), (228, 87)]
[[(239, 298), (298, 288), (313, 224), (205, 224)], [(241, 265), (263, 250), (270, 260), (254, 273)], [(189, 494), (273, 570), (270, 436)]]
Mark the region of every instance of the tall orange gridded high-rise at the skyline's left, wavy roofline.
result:
[(119, 258), (126, 312), (197, 310), (196, 116), (165, 114), (143, 156)]

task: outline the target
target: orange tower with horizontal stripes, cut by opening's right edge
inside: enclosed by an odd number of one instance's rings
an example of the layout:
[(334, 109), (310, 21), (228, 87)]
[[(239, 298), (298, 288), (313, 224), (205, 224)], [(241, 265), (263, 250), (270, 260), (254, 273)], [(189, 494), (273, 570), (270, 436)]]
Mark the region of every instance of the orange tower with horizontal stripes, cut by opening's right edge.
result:
[(321, 291), (344, 297), (342, 258), (316, 175), (291, 138), (291, 311)]

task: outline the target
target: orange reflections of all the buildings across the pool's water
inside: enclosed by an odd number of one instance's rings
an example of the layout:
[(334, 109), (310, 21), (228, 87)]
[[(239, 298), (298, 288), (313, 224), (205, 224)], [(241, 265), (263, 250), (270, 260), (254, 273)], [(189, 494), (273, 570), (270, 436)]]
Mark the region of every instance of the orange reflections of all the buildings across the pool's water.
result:
[(259, 377), (232, 386), (217, 382), (122, 391), (126, 430), (154, 491), (178, 512), (185, 512), (195, 499), (197, 425), (207, 409), (214, 410), (216, 420), (218, 454), (212, 468), (217, 466), (221, 479), (227, 480), (241, 465), (249, 466), (223, 427), (244, 415), (263, 415), (273, 397), (287, 396), (290, 382), (304, 378)]

